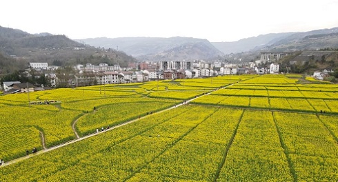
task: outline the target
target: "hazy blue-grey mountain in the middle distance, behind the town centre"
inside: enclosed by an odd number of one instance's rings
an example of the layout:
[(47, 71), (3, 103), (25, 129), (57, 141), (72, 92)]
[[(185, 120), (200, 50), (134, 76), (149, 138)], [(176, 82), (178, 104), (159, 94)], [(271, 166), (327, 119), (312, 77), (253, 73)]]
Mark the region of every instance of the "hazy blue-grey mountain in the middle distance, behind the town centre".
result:
[(206, 39), (189, 37), (125, 37), (77, 40), (95, 47), (114, 48), (140, 61), (215, 59), (223, 53)]

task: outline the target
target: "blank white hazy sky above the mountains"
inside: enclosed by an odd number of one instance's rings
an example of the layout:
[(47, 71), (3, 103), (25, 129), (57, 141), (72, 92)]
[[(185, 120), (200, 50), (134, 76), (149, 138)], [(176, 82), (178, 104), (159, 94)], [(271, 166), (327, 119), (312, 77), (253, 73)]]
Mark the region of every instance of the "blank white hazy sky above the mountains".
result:
[(5, 0), (0, 26), (95, 37), (237, 41), (338, 26), (338, 0)]

